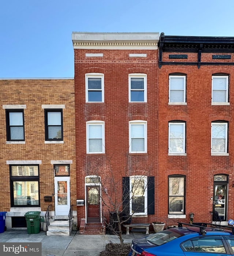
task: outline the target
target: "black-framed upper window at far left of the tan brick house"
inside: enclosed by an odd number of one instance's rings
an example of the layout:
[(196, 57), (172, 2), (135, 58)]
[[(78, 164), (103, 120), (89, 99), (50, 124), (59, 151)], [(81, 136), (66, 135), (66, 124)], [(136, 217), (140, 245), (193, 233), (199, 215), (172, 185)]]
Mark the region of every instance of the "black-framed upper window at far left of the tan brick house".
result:
[(7, 140), (24, 141), (23, 109), (6, 109)]

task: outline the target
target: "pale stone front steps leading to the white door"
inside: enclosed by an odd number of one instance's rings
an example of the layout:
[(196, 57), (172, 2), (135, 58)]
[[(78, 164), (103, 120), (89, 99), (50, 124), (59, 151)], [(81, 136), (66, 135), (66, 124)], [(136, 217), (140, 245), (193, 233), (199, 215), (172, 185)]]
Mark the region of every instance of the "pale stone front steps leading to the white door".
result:
[(71, 226), (69, 227), (68, 219), (51, 219), (48, 231), (46, 231), (47, 236), (70, 236), (73, 227), (73, 219)]

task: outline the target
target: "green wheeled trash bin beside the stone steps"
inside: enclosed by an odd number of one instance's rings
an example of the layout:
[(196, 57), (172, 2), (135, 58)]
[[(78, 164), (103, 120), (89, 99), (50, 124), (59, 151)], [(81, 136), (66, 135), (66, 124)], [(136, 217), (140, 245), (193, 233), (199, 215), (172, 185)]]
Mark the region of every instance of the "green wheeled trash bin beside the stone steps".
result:
[(28, 234), (38, 234), (41, 230), (41, 212), (40, 211), (28, 211), (24, 214), (27, 222)]

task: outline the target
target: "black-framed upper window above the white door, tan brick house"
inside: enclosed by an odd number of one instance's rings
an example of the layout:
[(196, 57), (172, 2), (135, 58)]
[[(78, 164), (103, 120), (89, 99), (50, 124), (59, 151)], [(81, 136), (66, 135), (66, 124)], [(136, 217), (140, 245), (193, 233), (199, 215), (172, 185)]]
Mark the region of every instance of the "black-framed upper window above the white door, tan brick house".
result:
[(45, 140), (63, 140), (62, 109), (45, 109)]

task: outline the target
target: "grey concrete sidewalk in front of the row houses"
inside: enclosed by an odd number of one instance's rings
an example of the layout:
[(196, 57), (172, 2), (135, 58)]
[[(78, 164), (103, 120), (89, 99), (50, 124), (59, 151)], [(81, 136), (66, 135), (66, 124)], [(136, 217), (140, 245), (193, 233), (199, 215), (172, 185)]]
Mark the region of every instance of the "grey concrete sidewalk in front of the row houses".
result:
[[(131, 232), (122, 236), (124, 243), (131, 243), (146, 234)], [(72, 231), (71, 236), (46, 236), (44, 231), (28, 234), (27, 230), (6, 230), (0, 233), (0, 242), (41, 242), (42, 256), (98, 256), (106, 244), (119, 243), (120, 240), (116, 235), (80, 235), (79, 231)]]

